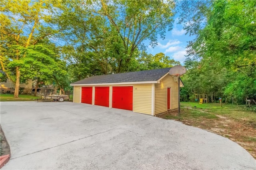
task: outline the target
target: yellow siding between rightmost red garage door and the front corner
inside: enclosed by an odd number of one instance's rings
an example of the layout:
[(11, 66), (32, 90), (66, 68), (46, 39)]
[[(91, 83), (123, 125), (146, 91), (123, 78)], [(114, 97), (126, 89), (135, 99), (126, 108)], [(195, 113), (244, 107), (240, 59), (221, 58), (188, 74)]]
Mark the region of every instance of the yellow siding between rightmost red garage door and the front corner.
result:
[(133, 111), (151, 115), (152, 84), (133, 85)]

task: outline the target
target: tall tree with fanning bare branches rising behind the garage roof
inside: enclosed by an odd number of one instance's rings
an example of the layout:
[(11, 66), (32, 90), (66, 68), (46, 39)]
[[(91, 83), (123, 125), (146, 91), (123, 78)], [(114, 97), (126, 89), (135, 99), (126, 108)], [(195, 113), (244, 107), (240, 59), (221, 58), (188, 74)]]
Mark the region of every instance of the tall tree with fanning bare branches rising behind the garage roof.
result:
[[(174, 16), (173, 1), (97, 1), (91, 5), (92, 11), (104, 16), (120, 38), (120, 48), (124, 56), (118, 63), (117, 73), (122, 72), (121, 65), (132, 59), (137, 48), (144, 49), (144, 40), (150, 45), (157, 44), (157, 36), (165, 37), (166, 28), (172, 29)], [(95, 8), (100, 6), (98, 10)]]

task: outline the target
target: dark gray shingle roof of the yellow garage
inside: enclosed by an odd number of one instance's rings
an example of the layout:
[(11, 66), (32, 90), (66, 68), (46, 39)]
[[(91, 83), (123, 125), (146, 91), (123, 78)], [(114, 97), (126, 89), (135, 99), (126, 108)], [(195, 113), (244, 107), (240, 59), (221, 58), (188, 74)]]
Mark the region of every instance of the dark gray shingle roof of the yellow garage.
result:
[(166, 73), (168, 73), (169, 70), (170, 68), (164, 68), (164, 69), (135, 71), (135, 72), (129, 72), (129, 73), (97, 75), (97, 76), (88, 77), (80, 81), (76, 81), (74, 83), (71, 83), (71, 85), (157, 81)]

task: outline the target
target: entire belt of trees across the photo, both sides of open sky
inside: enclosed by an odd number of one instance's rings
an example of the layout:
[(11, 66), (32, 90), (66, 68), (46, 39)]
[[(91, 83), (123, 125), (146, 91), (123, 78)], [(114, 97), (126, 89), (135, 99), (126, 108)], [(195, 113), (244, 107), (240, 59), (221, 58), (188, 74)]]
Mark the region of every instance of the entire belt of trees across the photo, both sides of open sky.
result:
[(256, 1), (15, 0), (0, 4), (0, 79), (34, 79), (70, 90), (94, 75), (157, 69), (180, 62), (154, 47), (178, 16), (187, 34), (182, 99), (194, 94), (256, 99)]

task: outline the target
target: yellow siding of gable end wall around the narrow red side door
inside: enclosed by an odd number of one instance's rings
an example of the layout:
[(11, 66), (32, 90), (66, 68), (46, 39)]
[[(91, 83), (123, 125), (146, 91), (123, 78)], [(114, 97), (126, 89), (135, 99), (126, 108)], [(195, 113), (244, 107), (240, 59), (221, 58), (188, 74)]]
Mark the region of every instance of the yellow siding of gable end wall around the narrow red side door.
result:
[(155, 84), (155, 114), (167, 111), (167, 87), (171, 88), (171, 109), (178, 108), (178, 82), (174, 82), (172, 75), (166, 75)]

